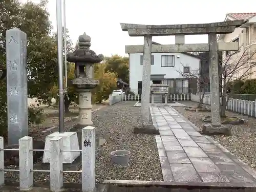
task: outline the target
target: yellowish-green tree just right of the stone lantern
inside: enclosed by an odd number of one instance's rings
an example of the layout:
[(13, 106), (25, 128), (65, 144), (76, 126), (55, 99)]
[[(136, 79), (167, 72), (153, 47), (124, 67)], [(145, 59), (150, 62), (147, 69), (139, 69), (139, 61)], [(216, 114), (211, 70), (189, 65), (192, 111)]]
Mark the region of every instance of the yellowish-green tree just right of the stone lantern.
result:
[(109, 95), (116, 89), (116, 74), (106, 71), (106, 63), (98, 63), (95, 66), (95, 78), (99, 80), (99, 85), (93, 90), (93, 102), (101, 103), (108, 100)]

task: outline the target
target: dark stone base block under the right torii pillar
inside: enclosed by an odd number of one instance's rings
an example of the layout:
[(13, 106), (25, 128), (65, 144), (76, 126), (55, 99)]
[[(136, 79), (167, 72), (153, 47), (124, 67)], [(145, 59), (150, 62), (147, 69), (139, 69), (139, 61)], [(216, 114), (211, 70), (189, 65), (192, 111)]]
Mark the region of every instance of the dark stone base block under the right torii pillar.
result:
[(231, 129), (225, 125), (212, 126), (210, 123), (203, 124), (203, 135), (231, 135)]

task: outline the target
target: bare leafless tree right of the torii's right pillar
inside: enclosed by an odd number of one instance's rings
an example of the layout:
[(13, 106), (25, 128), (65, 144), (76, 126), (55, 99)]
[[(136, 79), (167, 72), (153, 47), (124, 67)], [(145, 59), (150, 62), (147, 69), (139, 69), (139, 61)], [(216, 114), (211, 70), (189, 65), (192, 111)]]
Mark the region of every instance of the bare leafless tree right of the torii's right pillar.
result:
[(232, 81), (248, 79), (250, 75), (255, 73), (254, 67), (256, 63), (250, 62), (251, 59), (256, 56), (256, 50), (252, 50), (252, 46), (241, 46), (238, 51), (235, 51), (227, 55), (220, 66), (220, 87), (222, 92), (220, 94), (221, 103), (221, 117), (225, 117), (226, 106), (230, 95), (233, 93)]

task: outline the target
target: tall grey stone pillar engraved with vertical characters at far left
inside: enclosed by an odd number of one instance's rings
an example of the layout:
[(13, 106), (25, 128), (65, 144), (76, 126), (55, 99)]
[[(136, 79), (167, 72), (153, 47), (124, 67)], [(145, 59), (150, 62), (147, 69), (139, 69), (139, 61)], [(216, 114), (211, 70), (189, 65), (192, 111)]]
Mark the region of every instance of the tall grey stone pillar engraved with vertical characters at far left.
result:
[(8, 144), (28, 135), (27, 34), (6, 31)]

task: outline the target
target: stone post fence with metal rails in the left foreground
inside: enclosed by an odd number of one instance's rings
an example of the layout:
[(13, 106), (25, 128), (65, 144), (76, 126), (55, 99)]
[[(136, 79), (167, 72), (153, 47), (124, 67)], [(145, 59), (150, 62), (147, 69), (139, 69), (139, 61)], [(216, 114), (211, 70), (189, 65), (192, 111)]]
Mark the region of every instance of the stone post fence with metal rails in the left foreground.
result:
[[(29, 190), (33, 187), (33, 172), (50, 173), (50, 189), (59, 191), (63, 186), (63, 173), (81, 173), (82, 191), (95, 191), (95, 127), (87, 126), (82, 129), (82, 150), (61, 150), (64, 143), (61, 137), (51, 139), (50, 150), (33, 150), (33, 138), (25, 136), (19, 139), (19, 148), (5, 149), (4, 138), (0, 137), (0, 186), (5, 182), (5, 172), (19, 172), (20, 190)], [(19, 169), (5, 169), (4, 151), (19, 152)], [(50, 151), (50, 170), (33, 169), (33, 151)], [(63, 170), (63, 152), (81, 152), (82, 170)]]

